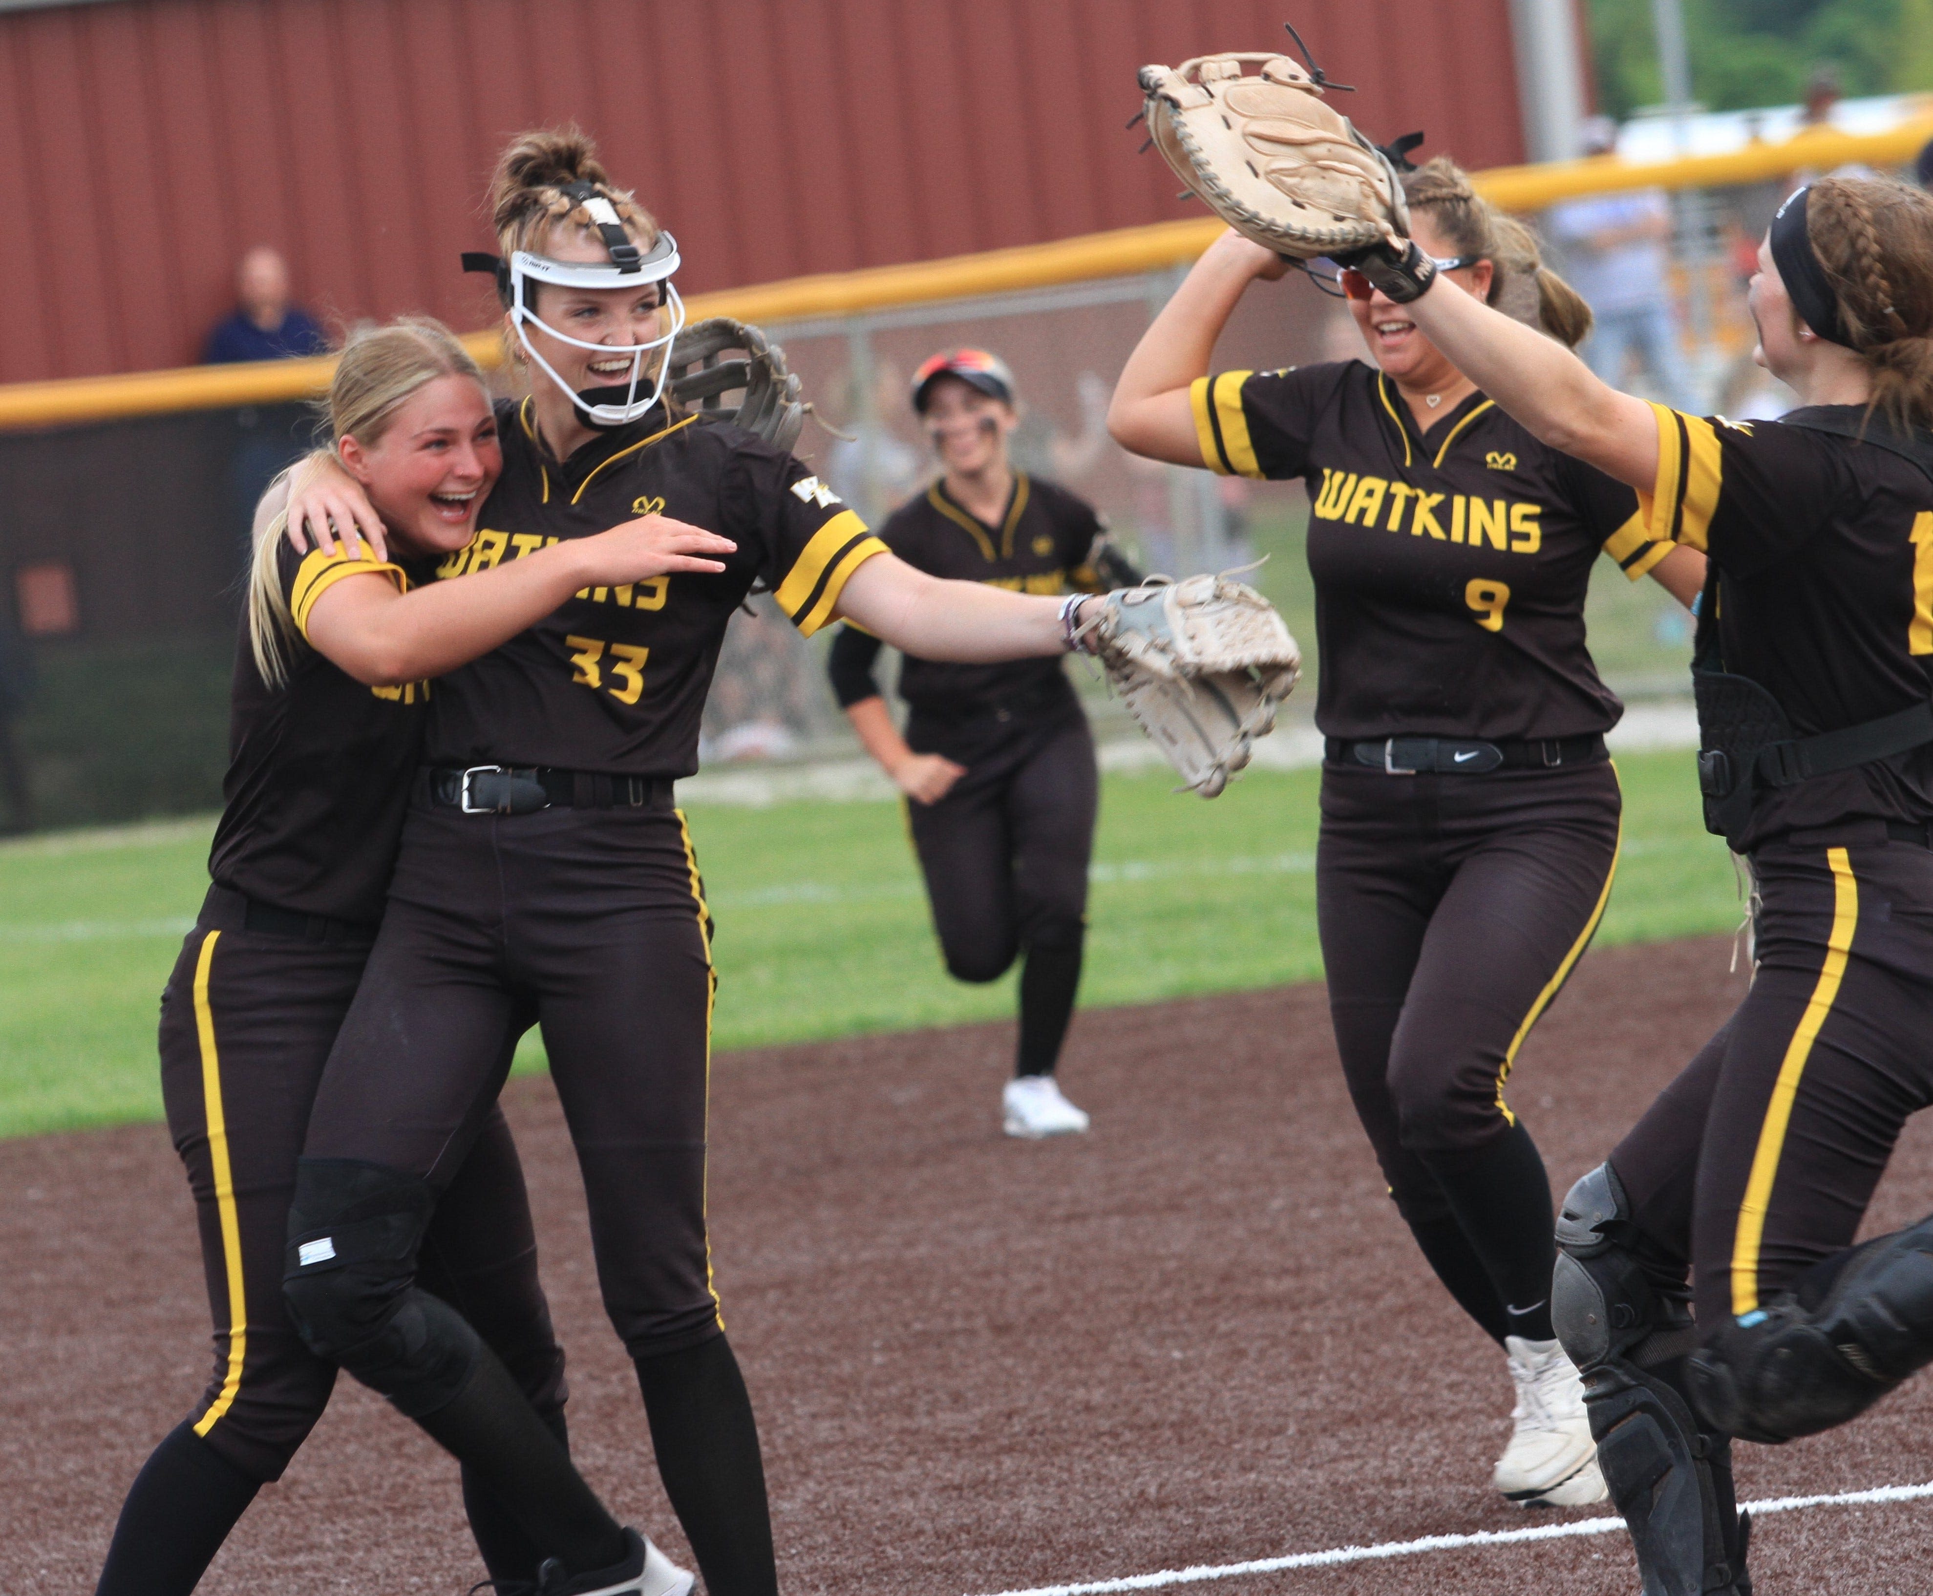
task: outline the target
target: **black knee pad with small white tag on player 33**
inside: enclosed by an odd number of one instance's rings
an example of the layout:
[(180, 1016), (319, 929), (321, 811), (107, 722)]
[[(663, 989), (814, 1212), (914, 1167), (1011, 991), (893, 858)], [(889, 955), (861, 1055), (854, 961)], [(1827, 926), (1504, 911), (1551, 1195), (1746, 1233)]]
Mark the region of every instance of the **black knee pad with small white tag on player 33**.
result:
[(302, 1159), (282, 1297), (302, 1339), (410, 1416), (456, 1397), (477, 1335), (416, 1285), (429, 1184), (360, 1159)]

